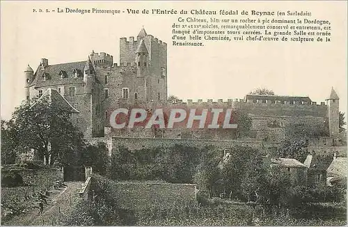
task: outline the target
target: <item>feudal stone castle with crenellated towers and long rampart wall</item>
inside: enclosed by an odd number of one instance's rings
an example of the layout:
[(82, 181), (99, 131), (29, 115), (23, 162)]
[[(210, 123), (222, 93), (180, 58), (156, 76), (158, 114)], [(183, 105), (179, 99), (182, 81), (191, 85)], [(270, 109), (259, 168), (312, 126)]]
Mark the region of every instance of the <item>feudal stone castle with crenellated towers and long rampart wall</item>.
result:
[[(109, 125), (111, 111), (120, 107), (145, 107), (155, 105), (188, 108), (239, 108), (252, 119), (251, 131), (258, 140), (280, 141), (285, 138), (291, 124), (325, 126), (327, 139), (339, 134), (339, 97), (335, 91), (325, 102), (317, 104), (310, 97), (278, 95), (246, 95), (244, 99), (177, 100), (168, 103), (167, 45), (141, 29), (134, 37), (120, 38), (120, 64), (104, 52), (91, 52), (86, 61), (49, 65), (42, 58), (35, 72), (28, 65), (25, 70), (26, 98), (41, 97), (48, 89), (55, 89), (79, 113), (72, 121), (86, 138), (126, 136), (152, 138), (150, 131), (139, 129), (114, 130)], [(296, 125), (294, 126), (296, 127)], [(168, 130), (162, 138), (173, 139), (231, 139), (228, 130)], [(324, 142), (326, 143), (326, 142)]]

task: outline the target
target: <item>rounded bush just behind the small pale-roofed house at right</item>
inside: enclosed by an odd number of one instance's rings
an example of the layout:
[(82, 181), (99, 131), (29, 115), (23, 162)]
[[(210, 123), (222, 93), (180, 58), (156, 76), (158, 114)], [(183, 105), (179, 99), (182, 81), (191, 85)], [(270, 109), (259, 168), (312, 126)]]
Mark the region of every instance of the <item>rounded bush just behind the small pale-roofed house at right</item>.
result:
[(277, 155), (283, 158), (293, 158), (303, 163), (309, 152), (304, 141), (283, 141), (277, 150)]

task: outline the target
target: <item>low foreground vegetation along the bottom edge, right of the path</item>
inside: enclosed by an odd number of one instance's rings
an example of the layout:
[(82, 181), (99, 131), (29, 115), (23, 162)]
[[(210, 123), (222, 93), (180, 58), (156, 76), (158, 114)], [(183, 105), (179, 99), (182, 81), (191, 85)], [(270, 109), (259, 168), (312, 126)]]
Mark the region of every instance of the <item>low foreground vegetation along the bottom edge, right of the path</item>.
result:
[[(278, 174), (275, 171), (274, 174)], [(273, 173), (272, 173), (273, 174)], [(278, 175), (280, 176), (280, 175)], [(95, 200), (81, 202), (63, 223), (69, 226), (251, 226), (258, 219), (260, 226), (341, 226), (346, 223), (346, 208), (338, 205), (306, 204), (303, 207), (264, 210), (260, 206), (236, 203), (177, 203), (178, 198), (164, 203), (148, 201), (127, 208), (118, 200), (115, 182), (93, 175)], [(284, 178), (285, 179), (285, 178)], [(276, 182), (276, 181), (274, 181)], [(286, 182), (283, 180), (281, 182)], [(277, 184), (280, 184), (277, 183)], [(285, 188), (286, 185), (283, 186)], [(269, 194), (276, 192), (272, 189)], [(131, 193), (129, 193), (131, 194)], [(276, 198), (280, 198), (276, 192)], [(137, 196), (132, 194), (131, 196)], [(282, 196), (286, 196), (282, 194)], [(139, 200), (142, 196), (139, 195)], [(276, 201), (276, 198), (272, 201)], [(130, 199), (132, 201), (132, 199)], [(145, 202), (145, 201), (144, 201)]]

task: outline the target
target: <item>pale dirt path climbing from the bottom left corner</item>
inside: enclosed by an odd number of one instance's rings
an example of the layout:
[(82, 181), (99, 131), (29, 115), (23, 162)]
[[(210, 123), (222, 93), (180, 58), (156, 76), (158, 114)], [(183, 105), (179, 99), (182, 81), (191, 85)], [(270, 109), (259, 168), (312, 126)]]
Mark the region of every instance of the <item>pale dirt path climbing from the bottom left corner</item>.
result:
[(47, 205), (41, 215), (38, 215), (38, 203), (17, 217), (13, 217), (3, 225), (6, 226), (52, 226), (58, 225), (59, 220), (70, 211), (72, 205), (79, 200), (78, 191), (83, 182), (65, 182), (68, 187), (54, 189), (47, 198)]

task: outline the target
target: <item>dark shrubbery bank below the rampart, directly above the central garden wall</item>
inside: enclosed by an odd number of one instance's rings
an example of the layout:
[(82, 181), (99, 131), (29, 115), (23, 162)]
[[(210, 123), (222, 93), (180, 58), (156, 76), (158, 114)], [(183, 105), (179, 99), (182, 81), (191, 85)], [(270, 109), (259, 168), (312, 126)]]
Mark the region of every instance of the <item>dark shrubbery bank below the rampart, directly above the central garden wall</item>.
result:
[(113, 152), (110, 175), (119, 180), (165, 180), (189, 183), (203, 150), (192, 146), (143, 148), (130, 151), (119, 148)]

